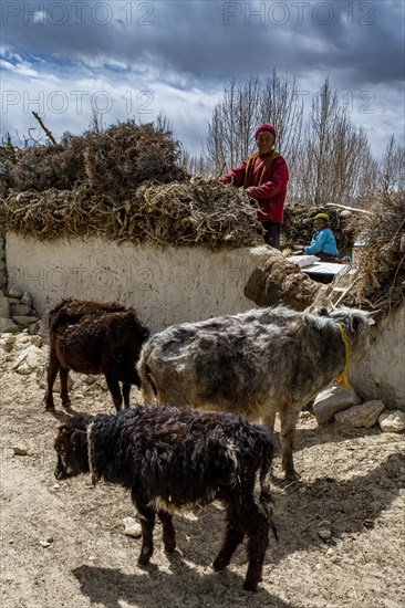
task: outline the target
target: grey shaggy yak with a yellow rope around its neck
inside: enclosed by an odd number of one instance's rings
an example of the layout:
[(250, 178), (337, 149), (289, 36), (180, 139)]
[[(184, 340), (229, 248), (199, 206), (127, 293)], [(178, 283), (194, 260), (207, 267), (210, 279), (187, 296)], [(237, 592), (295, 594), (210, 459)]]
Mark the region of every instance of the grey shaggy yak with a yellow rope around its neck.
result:
[(349, 347), (353, 357), (364, 353), (372, 323), (352, 308), (316, 316), (277, 306), (170, 326), (143, 346), (144, 401), (263, 419), (271, 432), (278, 412), (282, 467), (287, 479), (297, 479), (300, 411), (346, 368)]

